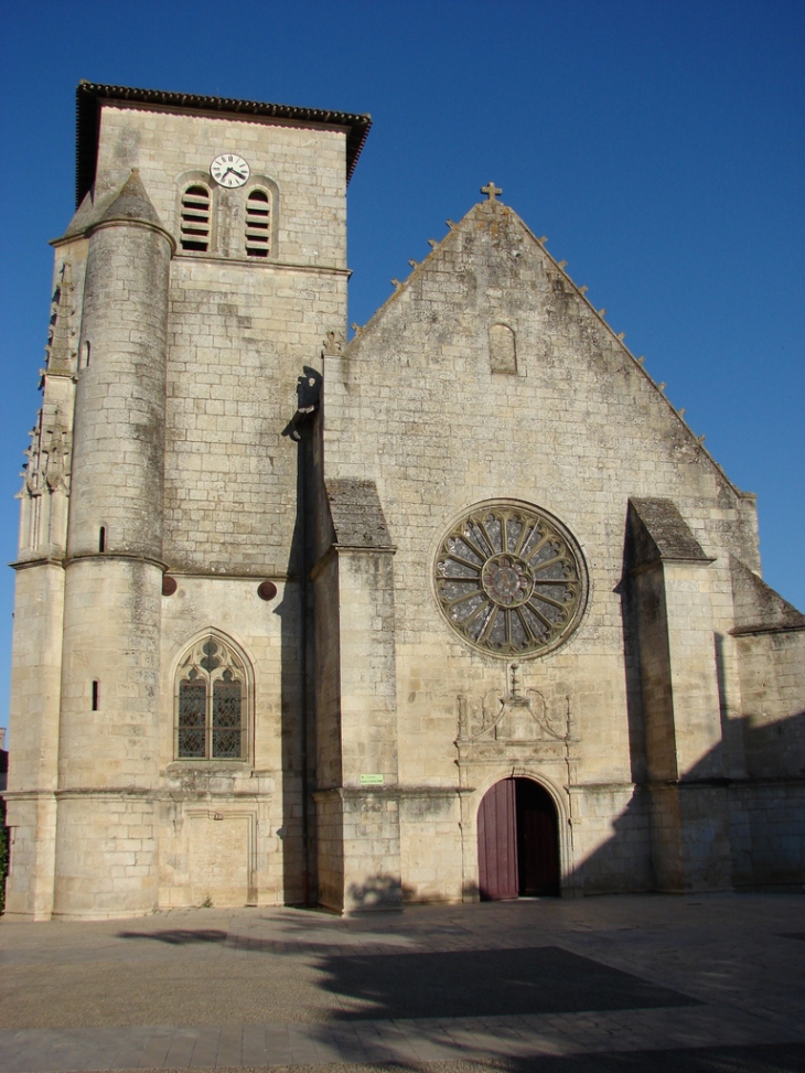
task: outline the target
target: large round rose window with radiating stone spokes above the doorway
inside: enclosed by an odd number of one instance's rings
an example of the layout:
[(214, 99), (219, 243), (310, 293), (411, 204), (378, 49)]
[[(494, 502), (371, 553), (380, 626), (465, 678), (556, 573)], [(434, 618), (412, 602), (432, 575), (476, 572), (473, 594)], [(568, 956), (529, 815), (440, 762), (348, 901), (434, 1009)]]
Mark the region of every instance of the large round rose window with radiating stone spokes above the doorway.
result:
[(508, 658), (562, 644), (587, 601), (587, 570), (571, 534), (539, 507), (484, 503), (439, 545), (436, 593), (455, 632)]

